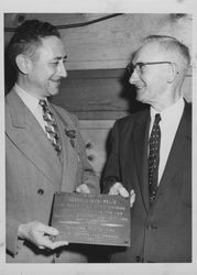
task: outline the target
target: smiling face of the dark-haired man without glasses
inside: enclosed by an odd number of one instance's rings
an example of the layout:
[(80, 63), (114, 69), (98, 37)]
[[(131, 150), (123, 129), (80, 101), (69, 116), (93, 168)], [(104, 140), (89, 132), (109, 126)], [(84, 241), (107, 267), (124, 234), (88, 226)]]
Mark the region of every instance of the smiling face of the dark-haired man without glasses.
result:
[(31, 61), (31, 70), (26, 75), (29, 86), (39, 97), (50, 97), (58, 92), (62, 77), (66, 77), (65, 50), (56, 36), (42, 38), (43, 44), (36, 50)]

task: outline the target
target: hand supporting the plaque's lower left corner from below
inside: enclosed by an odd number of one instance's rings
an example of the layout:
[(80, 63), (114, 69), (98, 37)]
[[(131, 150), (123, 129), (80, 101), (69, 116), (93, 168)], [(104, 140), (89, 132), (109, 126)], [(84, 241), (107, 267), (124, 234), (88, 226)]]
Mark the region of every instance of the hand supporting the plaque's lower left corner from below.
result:
[(67, 245), (66, 241), (53, 242), (51, 237), (58, 235), (58, 230), (48, 226), (45, 226), (39, 221), (32, 221), (25, 224), (21, 224), (18, 229), (18, 237), (25, 239), (34, 243), (39, 249), (55, 250), (59, 246)]

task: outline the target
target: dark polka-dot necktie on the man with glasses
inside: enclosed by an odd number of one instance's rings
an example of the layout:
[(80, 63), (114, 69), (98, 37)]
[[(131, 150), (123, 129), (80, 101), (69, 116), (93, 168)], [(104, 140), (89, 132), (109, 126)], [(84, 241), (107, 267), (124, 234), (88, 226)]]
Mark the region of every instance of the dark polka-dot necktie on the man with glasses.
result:
[(152, 204), (156, 196), (157, 178), (158, 178), (158, 163), (160, 163), (160, 143), (161, 143), (161, 130), (160, 113), (155, 114), (151, 136), (150, 136), (150, 154), (149, 154), (149, 193), (150, 202)]

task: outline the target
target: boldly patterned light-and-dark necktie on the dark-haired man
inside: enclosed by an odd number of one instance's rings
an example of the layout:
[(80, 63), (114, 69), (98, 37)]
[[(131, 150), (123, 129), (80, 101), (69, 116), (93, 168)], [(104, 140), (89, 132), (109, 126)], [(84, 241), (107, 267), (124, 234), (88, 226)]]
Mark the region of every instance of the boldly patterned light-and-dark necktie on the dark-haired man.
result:
[(54, 146), (55, 151), (57, 152), (57, 155), (59, 156), (61, 155), (61, 142), (59, 142), (57, 125), (56, 125), (54, 116), (52, 111), (50, 110), (48, 105), (45, 99), (41, 99), (39, 103), (42, 107), (43, 119), (46, 123), (45, 124), (46, 136), (50, 140), (51, 144)]

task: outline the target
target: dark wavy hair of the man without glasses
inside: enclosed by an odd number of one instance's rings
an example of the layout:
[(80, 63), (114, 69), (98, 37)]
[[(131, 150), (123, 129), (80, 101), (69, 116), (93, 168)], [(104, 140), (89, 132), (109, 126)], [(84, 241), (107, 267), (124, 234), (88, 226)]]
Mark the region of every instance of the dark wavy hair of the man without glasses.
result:
[(26, 20), (17, 28), (13, 37), (8, 45), (8, 56), (12, 65), (15, 66), (15, 57), (21, 54), (33, 56), (37, 46), (42, 44), (42, 38), (46, 36), (61, 37), (56, 26), (48, 22), (39, 20)]

